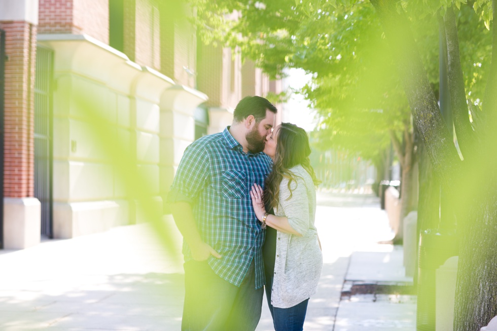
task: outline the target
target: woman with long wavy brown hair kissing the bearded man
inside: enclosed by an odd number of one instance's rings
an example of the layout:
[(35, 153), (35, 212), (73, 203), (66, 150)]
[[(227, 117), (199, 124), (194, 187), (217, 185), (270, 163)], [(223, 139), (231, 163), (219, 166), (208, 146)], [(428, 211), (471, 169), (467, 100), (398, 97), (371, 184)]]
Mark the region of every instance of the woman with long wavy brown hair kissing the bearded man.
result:
[(258, 185), (251, 191), (257, 218), (263, 228), (267, 226), (266, 297), (276, 331), (301, 331), (323, 266), (314, 226), (319, 181), (310, 166), (309, 139), (302, 128), (282, 123), (266, 139), (264, 153), (273, 159), (273, 170), (264, 192)]

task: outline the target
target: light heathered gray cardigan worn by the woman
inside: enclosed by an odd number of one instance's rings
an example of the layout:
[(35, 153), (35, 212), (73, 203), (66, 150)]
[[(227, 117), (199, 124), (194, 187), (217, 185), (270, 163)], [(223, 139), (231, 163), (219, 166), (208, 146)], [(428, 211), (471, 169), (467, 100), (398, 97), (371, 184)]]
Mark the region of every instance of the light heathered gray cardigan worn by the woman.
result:
[(308, 299), (317, 290), (323, 267), (323, 254), (319, 249), (314, 226), (316, 190), (311, 176), (301, 166), (290, 169), (297, 178), (283, 178), (279, 186), (279, 203), (276, 216), (287, 216), (290, 226), (302, 237), (277, 232), (276, 261), (271, 291), (271, 304), (277, 308), (290, 308)]

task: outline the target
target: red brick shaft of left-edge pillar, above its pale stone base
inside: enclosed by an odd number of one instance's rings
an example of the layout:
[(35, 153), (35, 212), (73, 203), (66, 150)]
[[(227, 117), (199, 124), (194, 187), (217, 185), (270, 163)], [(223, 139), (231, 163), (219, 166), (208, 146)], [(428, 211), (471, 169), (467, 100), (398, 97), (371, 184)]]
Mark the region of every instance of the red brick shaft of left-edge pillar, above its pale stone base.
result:
[(6, 31), (4, 196), (32, 197), (34, 188), (34, 70), (37, 28), (0, 22)]

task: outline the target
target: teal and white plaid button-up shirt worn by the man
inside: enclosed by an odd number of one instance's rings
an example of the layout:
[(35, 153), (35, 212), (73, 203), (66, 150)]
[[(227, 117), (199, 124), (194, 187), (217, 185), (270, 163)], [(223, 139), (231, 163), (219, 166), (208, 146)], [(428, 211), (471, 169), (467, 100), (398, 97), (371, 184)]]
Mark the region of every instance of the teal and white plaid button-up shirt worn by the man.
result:
[[(240, 286), (254, 259), (255, 286), (260, 288), (264, 285), (262, 244), (266, 232), (254, 213), (249, 192), (253, 183), (264, 187), (271, 159), (264, 153), (243, 153), (228, 129), (188, 146), (167, 200), (192, 205), (200, 237), (222, 256), (208, 260), (217, 275)], [(192, 259), (185, 241), (183, 254), (185, 261)]]

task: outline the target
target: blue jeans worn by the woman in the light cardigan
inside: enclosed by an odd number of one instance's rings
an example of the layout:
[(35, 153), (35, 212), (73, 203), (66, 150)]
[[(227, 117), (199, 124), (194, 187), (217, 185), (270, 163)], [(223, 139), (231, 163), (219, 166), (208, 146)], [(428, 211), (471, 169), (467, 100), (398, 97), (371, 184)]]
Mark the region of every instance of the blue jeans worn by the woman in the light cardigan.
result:
[[(268, 284), (270, 286), (268, 286)], [(273, 325), (276, 331), (302, 331), (304, 329), (305, 313), (309, 299), (290, 308), (277, 308), (271, 305), (271, 287), (273, 277), (266, 277), (266, 298), (269, 311), (273, 317)]]

